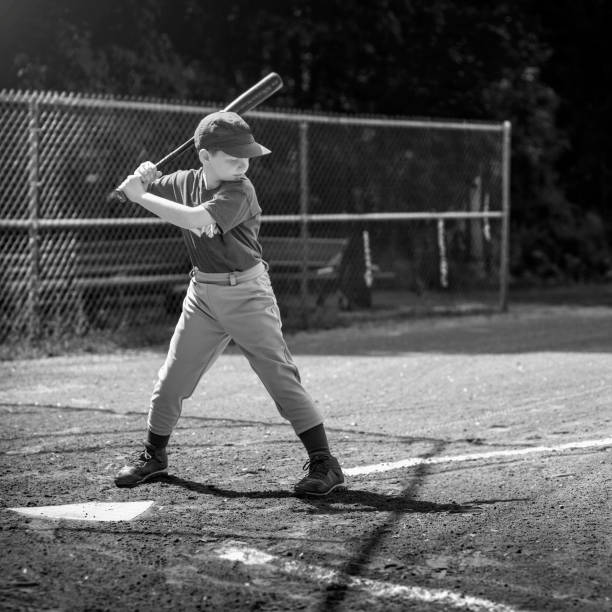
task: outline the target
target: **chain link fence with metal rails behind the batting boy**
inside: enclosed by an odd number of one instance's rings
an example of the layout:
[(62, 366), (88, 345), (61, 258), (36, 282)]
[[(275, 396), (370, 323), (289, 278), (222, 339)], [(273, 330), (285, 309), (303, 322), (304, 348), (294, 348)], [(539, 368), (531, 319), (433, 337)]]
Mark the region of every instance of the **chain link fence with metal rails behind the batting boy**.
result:
[[(0, 92), (0, 338), (174, 321), (180, 232), (107, 195), (220, 105)], [(509, 124), (253, 111), (249, 176), (292, 313), (505, 308)], [(189, 152), (164, 172), (196, 167)]]

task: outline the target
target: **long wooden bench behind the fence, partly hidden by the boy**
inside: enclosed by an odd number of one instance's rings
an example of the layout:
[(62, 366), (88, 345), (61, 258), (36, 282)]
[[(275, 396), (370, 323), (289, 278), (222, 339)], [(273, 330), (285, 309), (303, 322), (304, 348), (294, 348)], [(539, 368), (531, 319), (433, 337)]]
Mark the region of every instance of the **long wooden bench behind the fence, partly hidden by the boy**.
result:
[[(309, 237), (305, 242), (299, 236), (262, 236), (261, 243), (279, 293), (299, 296), (305, 282), (321, 303), (337, 289), (347, 238)], [(3, 284), (14, 291), (27, 290), (27, 257), (14, 254), (5, 270)], [(155, 238), (74, 238), (61, 252), (42, 249), (40, 257), (39, 289), (72, 296), (90, 321), (128, 302), (146, 309), (147, 300), (163, 301), (167, 311), (176, 312), (189, 282), (189, 258), (178, 232)]]

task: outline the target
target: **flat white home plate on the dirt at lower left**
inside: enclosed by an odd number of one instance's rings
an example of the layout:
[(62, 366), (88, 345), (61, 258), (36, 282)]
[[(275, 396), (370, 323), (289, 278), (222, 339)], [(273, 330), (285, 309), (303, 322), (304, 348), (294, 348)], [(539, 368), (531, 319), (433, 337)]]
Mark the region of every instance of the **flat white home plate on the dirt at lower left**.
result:
[(36, 518), (73, 521), (131, 521), (148, 510), (153, 503), (149, 500), (138, 502), (87, 502), (63, 506), (9, 508), (9, 510)]

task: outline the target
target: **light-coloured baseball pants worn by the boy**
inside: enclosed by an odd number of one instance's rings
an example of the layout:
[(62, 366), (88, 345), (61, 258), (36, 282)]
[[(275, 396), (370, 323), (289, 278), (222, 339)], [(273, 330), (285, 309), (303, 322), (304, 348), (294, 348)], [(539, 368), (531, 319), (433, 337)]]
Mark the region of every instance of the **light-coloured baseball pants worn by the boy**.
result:
[(263, 264), (250, 272), (236, 273), (233, 285), (198, 280), (228, 275), (196, 273), (192, 278), (151, 397), (148, 427), (153, 433), (172, 433), (183, 400), (192, 395), (230, 339), (249, 360), (296, 434), (323, 422), (283, 338), (268, 272)]

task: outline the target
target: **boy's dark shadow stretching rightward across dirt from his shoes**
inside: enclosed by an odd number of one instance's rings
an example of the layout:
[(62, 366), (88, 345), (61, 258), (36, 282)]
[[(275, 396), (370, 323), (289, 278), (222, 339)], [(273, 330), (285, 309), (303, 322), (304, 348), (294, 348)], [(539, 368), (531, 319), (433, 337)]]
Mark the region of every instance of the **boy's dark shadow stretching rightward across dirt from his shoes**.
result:
[[(258, 490), (237, 491), (222, 489), (215, 485), (185, 480), (178, 476), (160, 476), (158, 482), (181, 487), (200, 495), (212, 495), (223, 499), (295, 499), (307, 505), (311, 514), (346, 514), (351, 512), (399, 512), (399, 513), (475, 513), (481, 510), (475, 504), (440, 504), (424, 500), (416, 500), (405, 494), (387, 495), (362, 489), (345, 489), (334, 491), (323, 498), (296, 497), (290, 491)], [(151, 482), (151, 481), (149, 481)]]

